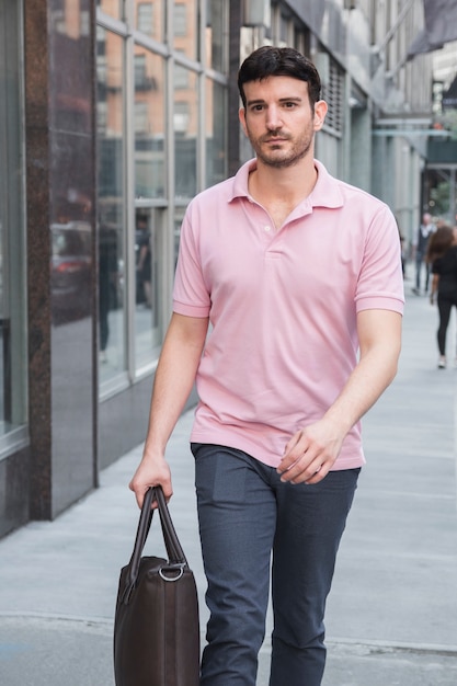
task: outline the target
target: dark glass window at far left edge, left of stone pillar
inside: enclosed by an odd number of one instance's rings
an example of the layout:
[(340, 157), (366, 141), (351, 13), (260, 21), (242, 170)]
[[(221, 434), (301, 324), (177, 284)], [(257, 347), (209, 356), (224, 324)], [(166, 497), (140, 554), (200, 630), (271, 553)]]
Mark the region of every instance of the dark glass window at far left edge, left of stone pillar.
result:
[(26, 422), (20, 11), (21, 3), (0, 2), (0, 437)]

